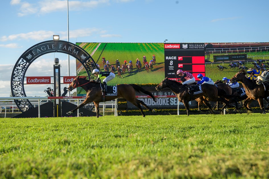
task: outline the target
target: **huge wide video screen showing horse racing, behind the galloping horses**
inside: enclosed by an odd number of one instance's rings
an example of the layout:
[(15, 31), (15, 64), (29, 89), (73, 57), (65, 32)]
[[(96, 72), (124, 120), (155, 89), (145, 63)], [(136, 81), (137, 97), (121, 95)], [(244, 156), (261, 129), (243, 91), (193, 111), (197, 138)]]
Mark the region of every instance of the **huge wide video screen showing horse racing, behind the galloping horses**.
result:
[[(212, 80), (231, 78), (240, 68), (255, 68), (254, 61), (268, 59), (269, 43), (81, 43), (100, 70), (113, 71), (108, 85), (159, 84), (178, 78), (178, 69), (201, 73)], [(242, 64), (237, 64), (242, 61)], [(237, 64), (237, 65), (235, 65)], [(240, 66), (239, 66), (240, 65)], [(264, 63), (264, 65), (266, 65)], [(235, 66), (235, 67), (234, 67)], [(259, 68), (257, 66), (257, 68)], [(119, 72), (120, 71), (120, 72)], [(87, 76), (77, 60), (77, 75)], [(196, 81), (198, 79), (196, 78)], [(83, 89), (77, 95), (85, 94)]]

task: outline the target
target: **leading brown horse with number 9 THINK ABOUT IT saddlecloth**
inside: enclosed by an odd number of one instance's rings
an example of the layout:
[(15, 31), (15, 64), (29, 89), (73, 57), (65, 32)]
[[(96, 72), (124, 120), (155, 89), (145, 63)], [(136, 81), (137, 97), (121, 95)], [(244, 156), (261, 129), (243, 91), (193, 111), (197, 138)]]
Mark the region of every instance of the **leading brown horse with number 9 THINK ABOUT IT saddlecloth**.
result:
[[(67, 114), (71, 115), (75, 110), (83, 107), (84, 105), (93, 102), (96, 108), (96, 115), (97, 118), (99, 117), (99, 103), (103, 102), (103, 93), (101, 88), (101, 83), (97, 83), (94, 81), (86, 80), (85, 78), (79, 78), (79, 76), (75, 77), (75, 79), (72, 81), (70, 86), (68, 87), (69, 91), (72, 91), (73, 89), (81, 86), (85, 91), (87, 91), (85, 100), (75, 109), (72, 111), (69, 111)], [(146, 91), (140, 86), (137, 86), (135, 84), (120, 84), (117, 85), (117, 95), (115, 96), (106, 96), (105, 101), (111, 101), (113, 99), (122, 97), (126, 99), (127, 101), (130, 101), (133, 105), (135, 105), (138, 109), (140, 109), (141, 114), (143, 117), (145, 117), (145, 113), (143, 112), (141, 105), (143, 105), (146, 109), (149, 111), (155, 112), (153, 109), (149, 108), (143, 101), (140, 101), (136, 99), (135, 97), (135, 91), (145, 93), (146, 95), (149, 95), (152, 97), (152, 99), (157, 102), (155, 97), (151, 94), (151, 92)]]

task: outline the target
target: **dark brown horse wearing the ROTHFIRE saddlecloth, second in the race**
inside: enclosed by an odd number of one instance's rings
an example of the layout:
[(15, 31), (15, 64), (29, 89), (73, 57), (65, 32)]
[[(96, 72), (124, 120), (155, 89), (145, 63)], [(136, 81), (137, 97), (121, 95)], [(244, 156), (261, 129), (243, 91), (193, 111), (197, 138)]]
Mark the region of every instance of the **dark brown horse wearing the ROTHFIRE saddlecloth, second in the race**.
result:
[(189, 101), (192, 101), (194, 99), (197, 99), (199, 97), (206, 97), (206, 99), (208, 101), (223, 101), (225, 104), (228, 104), (228, 101), (226, 99), (224, 99), (223, 97), (230, 97), (229, 95), (227, 95), (225, 93), (224, 90), (217, 88), (215, 85), (211, 85), (211, 84), (202, 84), (201, 85), (201, 89), (202, 92), (198, 93), (198, 94), (193, 94), (191, 95), (188, 92), (188, 88), (185, 87), (184, 85), (182, 85), (181, 83), (178, 83), (174, 80), (170, 80), (168, 79), (168, 77), (166, 77), (160, 84), (158, 84), (158, 86), (156, 86), (156, 90), (160, 90), (163, 88), (170, 88), (173, 93), (176, 94), (178, 101), (183, 102), (186, 110), (187, 110), (187, 115), (189, 115)]

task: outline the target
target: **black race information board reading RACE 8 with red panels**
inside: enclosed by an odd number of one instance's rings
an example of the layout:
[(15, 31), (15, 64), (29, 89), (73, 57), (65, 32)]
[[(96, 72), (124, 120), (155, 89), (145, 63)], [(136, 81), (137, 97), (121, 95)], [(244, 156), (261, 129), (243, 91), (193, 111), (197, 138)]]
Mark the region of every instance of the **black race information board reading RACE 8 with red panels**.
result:
[(204, 43), (165, 43), (165, 77), (176, 80), (176, 71), (181, 69), (193, 74), (196, 80), (205, 76)]

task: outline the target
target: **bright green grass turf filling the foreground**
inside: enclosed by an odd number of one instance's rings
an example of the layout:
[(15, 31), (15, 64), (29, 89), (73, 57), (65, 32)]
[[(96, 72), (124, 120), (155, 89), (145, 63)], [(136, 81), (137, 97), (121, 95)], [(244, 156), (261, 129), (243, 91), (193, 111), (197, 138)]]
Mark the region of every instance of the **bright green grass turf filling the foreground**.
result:
[(268, 115), (0, 118), (0, 178), (269, 178)]

